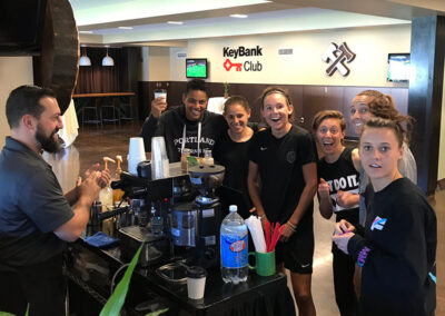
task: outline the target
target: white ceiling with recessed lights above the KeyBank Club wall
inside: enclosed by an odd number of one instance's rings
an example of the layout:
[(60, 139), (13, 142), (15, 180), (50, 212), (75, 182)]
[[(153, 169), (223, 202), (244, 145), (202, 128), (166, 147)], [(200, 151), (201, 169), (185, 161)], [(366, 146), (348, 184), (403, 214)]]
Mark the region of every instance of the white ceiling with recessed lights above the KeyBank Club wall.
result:
[[(415, 16), (445, 14), (443, 0), (70, 2), (82, 43), (115, 46), (185, 46), (188, 39), (197, 38), (404, 24), (411, 23)], [(247, 14), (247, 18), (231, 18), (230, 14)], [(171, 24), (168, 21), (182, 24)]]

